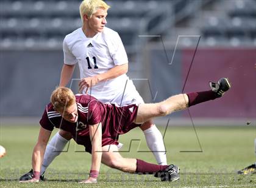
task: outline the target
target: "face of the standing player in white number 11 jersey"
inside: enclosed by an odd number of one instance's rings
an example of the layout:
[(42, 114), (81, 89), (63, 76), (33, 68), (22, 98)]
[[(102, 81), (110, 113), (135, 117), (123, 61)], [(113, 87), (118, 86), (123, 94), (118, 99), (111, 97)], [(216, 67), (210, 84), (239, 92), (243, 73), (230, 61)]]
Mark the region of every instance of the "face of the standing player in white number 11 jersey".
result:
[(96, 13), (88, 18), (88, 29), (93, 33), (102, 32), (107, 24), (107, 10), (99, 8)]

